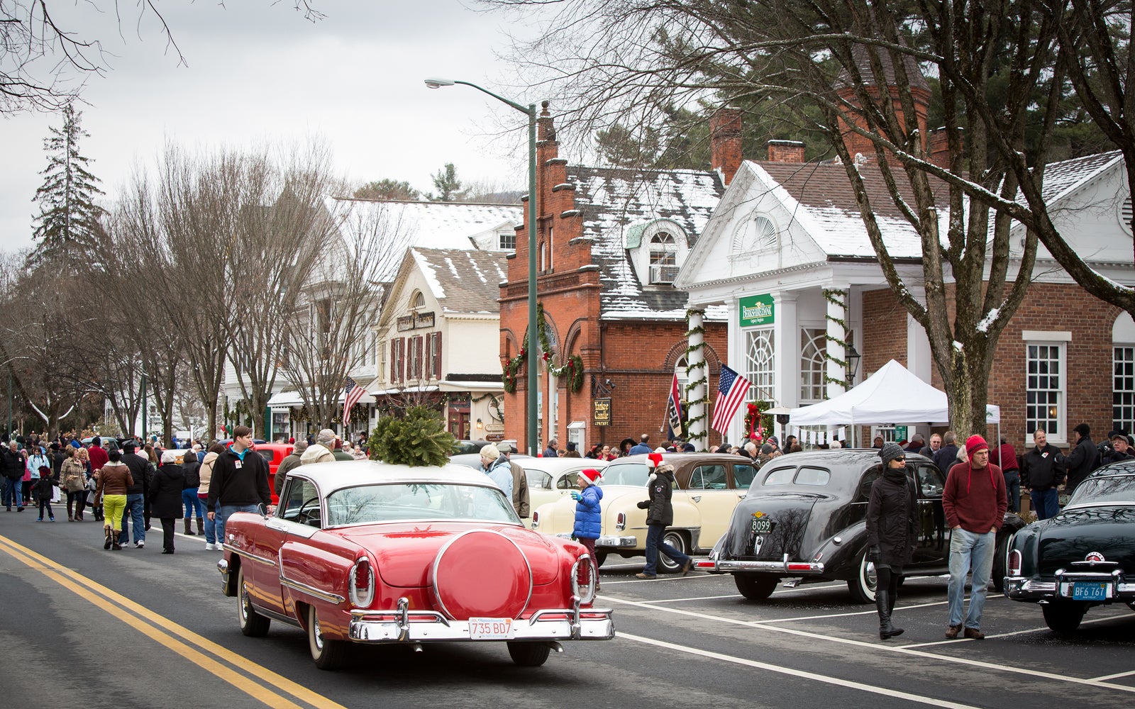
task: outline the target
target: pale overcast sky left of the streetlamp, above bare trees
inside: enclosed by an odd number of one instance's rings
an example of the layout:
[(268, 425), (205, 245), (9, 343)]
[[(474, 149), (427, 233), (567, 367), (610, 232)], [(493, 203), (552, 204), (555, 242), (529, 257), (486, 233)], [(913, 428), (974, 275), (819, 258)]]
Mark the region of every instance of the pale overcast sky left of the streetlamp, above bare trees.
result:
[[(188, 66), (152, 17), (123, 22), (57, 2), (72, 26), (98, 34), (114, 56), (106, 77), (83, 92), (81, 151), (110, 200), (136, 164), (151, 167), (166, 141), (191, 147), (323, 138), (352, 180), (389, 177), (432, 189), (430, 174), (453, 162), (464, 182), (527, 184), (523, 113), (465, 86), (430, 90), (426, 77), (460, 78), (522, 103), (538, 99), (501, 86), (514, 81), (497, 52), (515, 18), (476, 12), (459, 0), (316, 0), (314, 24), (289, 0), (159, 3)], [(106, 5), (106, 3), (103, 3)], [(506, 25), (506, 23), (508, 23)], [(141, 35), (141, 36), (140, 36)], [(0, 250), (31, 245), (43, 138), (61, 119), (0, 119)], [(515, 128), (499, 137), (503, 128)]]

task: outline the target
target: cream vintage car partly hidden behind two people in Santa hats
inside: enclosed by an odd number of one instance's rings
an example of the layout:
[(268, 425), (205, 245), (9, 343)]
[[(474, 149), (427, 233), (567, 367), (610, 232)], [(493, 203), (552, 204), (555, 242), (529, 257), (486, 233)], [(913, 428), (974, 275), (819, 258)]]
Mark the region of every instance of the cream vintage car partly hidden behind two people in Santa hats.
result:
[[(594, 461), (592, 461), (594, 462)], [(686, 554), (707, 554), (729, 526), (738, 501), (745, 498), (757, 466), (747, 457), (716, 453), (667, 453), (663, 464), (674, 466), (674, 523), (665, 541)], [(603, 534), (596, 541), (596, 560), (608, 554), (623, 557), (646, 552), (646, 510), (650, 476), (646, 455), (612, 461), (603, 470)], [(531, 480), (531, 478), (529, 478)], [(529, 482), (531, 486), (531, 482)], [(529, 488), (531, 491), (531, 487)], [(532, 498), (532, 529), (545, 534), (571, 537), (575, 501), (570, 496), (536, 506)], [(658, 555), (659, 573), (679, 571), (678, 564)]]

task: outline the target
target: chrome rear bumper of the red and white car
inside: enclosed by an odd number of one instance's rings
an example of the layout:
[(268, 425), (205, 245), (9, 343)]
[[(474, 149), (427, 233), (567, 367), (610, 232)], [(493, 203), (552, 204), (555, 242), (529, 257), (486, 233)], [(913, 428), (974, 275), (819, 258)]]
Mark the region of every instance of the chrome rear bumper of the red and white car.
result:
[[(538, 610), (512, 622), (507, 636), (493, 640), (612, 640), (614, 611), (608, 608)], [(451, 621), (432, 610), (410, 610), (405, 598), (396, 610), (352, 610), (351, 640), (360, 643), (480, 642), (469, 636), (468, 621)]]

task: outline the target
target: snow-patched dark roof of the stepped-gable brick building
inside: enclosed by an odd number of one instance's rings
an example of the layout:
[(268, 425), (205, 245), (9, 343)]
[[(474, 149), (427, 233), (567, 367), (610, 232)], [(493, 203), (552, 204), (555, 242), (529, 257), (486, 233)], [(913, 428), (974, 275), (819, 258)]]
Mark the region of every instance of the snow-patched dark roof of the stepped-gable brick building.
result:
[(575, 185), (575, 209), (583, 236), (592, 239), (591, 261), (599, 267), (604, 318), (681, 319), (688, 294), (672, 286), (644, 288), (631, 265), (624, 236), (644, 223), (669, 219), (692, 247), (725, 188), (717, 172), (630, 170), (568, 166)]

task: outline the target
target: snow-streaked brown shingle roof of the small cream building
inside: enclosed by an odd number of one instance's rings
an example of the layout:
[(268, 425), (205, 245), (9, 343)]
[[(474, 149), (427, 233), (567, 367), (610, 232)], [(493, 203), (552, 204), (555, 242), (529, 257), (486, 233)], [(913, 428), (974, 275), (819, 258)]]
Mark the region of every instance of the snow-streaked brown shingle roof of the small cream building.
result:
[(507, 280), (505, 252), (470, 248), (410, 250), (445, 313), (499, 313), (499, 284)]

